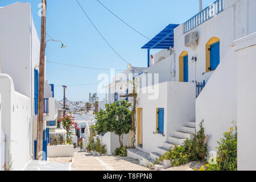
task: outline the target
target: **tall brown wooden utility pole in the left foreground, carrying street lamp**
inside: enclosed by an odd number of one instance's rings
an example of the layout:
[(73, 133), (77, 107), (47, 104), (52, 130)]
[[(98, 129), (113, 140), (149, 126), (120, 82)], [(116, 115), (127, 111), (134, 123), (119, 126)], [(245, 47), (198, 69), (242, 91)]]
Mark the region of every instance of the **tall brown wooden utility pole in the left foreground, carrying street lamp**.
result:
[(38, 128), (36, 143), (36, 159), (43, 155), (43, 123), (44, 123), (44, 57), (46, 54), (46, 0), (42, 0), (41, 46), (39, 63), (39, 94), (38, 94)]

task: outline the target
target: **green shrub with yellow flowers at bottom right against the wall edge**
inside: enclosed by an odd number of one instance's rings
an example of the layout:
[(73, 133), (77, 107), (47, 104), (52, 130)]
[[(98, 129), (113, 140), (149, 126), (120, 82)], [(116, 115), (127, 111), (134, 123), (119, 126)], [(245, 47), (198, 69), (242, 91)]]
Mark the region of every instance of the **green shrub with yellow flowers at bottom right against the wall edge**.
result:
[(209, 161), (208, 171), (237, 171), (237, 125), (232, 122), (228, 132), (224, 133), (224, 138), (218, 141), (216, 163)]

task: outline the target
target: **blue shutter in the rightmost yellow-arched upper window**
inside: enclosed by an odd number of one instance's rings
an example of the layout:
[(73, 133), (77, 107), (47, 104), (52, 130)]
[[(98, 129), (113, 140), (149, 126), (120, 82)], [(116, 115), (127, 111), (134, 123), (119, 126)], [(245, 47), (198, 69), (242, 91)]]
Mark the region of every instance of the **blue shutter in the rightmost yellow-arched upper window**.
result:
[(214, 70), (220, 64), (220, 42), (210, 45), (210, 70)]

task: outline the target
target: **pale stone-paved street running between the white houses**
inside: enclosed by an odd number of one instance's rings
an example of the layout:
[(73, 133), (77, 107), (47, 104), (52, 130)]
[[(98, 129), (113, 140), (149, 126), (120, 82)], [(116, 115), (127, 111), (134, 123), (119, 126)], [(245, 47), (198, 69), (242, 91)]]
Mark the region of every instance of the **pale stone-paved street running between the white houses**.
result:
[[(72, 162), (72, 163), (71, 163)], [(201, 167), (199, 162), (191, 162), (179, 167), (170, 167), (164, 171), (193, 171)], [(148, 171), (150, 168), (139, 165), (139, 161), (128, 157), (113, 155), (93, 156), (75, 148), (72, 158), (48, 158), (47, 161), (30, 160), (24, 171)]]

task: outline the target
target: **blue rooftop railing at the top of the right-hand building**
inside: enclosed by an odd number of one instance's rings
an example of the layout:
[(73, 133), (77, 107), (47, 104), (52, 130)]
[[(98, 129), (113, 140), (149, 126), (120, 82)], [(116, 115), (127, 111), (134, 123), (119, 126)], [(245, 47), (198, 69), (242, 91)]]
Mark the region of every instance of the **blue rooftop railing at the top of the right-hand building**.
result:
[(184, 23), (184, 34), (223, 11), (224, 0), (217, 0)]

